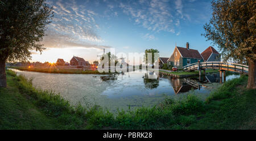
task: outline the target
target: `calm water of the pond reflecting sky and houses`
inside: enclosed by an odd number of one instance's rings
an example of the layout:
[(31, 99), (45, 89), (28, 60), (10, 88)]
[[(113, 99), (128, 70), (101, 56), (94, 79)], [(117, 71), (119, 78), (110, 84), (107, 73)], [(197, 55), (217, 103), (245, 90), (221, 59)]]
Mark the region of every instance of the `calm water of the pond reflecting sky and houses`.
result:
[[(97, 104), (112, 112), (117, 108), (127, 110), (129, 105), (131, 109), (153, 106), (166, 97), (184, 96), (191, 89), (198, 91), (197, 95), (206, 97), (220, 82), (219, 74), (207, 75), (207, 78), (176, 79), (143, 70), (116, 75), (49, 74), (11, 70), (32, 78), (35, 87), (60, 93), (72, 104)], [(147, 79), (148, 75), (153, 75), (155, 79)], [(228, 75), (226, 80), (237, 77), (239, 75)]]

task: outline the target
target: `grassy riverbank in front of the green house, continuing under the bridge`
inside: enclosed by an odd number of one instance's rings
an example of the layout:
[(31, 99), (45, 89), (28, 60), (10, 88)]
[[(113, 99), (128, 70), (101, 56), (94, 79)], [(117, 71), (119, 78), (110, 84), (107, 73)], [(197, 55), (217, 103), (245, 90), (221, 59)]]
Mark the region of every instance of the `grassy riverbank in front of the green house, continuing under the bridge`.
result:
[[(160, 73), (164, 74), (164, 75), (170, 75), (176, 78), (188, 78), (191, 76), (198, 76), (199, 75), (199, 71), (192, 71), (192, 72), (188, 72), (188, 71), (174, 71), (174, 72), (170, 72), (168, 70), (159, 70)], [(218, 72), (218, 70), (206, 70), (205, 73), (206, 74), (211, 74), (211, 73), (216, 73)]]

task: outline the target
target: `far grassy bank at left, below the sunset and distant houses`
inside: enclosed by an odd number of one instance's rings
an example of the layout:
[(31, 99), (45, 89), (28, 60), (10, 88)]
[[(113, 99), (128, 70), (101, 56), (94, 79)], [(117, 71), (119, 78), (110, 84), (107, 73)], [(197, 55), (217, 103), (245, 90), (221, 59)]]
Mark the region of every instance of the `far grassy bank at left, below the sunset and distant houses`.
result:
[(9, 66), (9, 68), (24, 70), (24, 71), (36, 71), (36, 72), (45, 72), (45, 73), (54, 73), (54, 74), (108, 74), (100, 73), (98, 70), (82, 70), (82, 69), (63, 69), (63, 68), (37, 68), (37, 67), (22, 67), (22, 66)]

